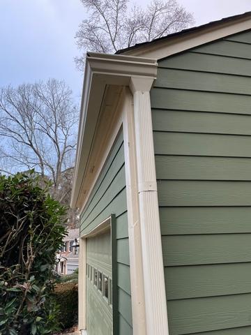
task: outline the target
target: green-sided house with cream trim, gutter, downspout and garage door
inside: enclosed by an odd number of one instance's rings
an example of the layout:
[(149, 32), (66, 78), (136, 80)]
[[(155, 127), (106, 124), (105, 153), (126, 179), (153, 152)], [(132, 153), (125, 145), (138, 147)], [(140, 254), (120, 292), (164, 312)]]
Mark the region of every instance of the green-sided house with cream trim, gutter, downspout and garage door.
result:
[(79, 329), (251, 334), (251, 13), (89, 53)]

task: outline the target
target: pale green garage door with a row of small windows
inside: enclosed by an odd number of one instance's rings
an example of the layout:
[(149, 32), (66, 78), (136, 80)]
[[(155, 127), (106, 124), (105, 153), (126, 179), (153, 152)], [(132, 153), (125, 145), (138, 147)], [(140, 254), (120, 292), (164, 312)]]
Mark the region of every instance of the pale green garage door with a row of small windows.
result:
[(112, 335), (112, 253), (110, 230), (87, 239), (86, 329)]

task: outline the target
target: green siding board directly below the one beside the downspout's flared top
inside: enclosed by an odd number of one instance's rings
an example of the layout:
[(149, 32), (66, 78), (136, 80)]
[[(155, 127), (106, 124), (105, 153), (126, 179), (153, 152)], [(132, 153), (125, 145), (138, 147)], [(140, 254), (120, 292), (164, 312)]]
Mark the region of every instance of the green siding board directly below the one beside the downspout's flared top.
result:
[(251, 96), (181, 89), (151, 89), (151, 107), (159, 109), (251, 114), (250, 105)]

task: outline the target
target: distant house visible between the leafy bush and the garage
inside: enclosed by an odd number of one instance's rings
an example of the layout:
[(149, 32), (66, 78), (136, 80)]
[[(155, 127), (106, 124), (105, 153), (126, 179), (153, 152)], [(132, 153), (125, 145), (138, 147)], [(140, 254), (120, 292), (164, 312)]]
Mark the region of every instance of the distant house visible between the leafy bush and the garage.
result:
[(56, 255), (56, 271), (59, 274), (73, 274), (78, 268), (79, 258), (79, 229), (68, 230), (68, 235), (63, 239), (61, 251)]

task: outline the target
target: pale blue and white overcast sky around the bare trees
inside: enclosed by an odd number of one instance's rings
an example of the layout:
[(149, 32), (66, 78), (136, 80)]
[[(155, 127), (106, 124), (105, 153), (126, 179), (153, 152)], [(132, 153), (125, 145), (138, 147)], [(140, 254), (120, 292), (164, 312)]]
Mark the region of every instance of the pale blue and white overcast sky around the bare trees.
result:
[[(147, 1), (149, 2), (149, 1)], [(194, 13), (196, 25), (251, 10), (251, 0), (179, 0)], [(146, 1), (138, 1), (144, 3)], [(86, 15), (79, 0), (0, 0), (0, 87), (63, 79), (75, 98), (82, 74), (73, 58), (75, 32)]]

